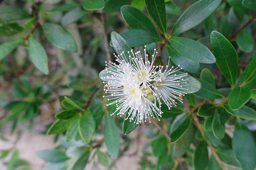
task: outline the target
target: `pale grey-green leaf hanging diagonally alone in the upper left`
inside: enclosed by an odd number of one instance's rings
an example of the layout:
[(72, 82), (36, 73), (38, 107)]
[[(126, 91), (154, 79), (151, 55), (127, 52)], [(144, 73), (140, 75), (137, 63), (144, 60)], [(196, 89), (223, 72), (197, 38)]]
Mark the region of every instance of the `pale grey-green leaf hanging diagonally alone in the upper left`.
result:
[(44, 74), (49, 73), (48, 59), (44, 47), (33, 37), (29, 39), (29, 57), (36, 68)]

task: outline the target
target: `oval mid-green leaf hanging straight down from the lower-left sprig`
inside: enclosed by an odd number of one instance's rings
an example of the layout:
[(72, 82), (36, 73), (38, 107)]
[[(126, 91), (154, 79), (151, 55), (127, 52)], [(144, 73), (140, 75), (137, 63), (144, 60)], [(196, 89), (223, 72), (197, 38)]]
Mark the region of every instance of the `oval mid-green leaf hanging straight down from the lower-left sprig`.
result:
[(95, 128), (96, 123), (90, 111), (83, 112), (82, 116), (80, 117), (78, 131), (85, 143), (89, 143), (91, 141), (95, 133)]

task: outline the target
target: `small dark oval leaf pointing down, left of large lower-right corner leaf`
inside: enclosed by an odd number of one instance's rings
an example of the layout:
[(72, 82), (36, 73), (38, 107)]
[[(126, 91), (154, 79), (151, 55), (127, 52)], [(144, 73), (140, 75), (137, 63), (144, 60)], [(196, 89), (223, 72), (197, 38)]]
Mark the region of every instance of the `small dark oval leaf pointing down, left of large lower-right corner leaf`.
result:
[(222, 115), (217, 109), (212, 120), (212, 132), (218, 139), (222, 139), (225, 136), (225, 122), (222, 120)]

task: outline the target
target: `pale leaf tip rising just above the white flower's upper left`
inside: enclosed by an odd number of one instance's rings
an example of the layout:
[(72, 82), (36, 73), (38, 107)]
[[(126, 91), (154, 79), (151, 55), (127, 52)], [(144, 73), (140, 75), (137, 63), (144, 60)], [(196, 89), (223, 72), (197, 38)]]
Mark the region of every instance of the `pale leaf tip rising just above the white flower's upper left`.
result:
[(124, 40), (122, 36), (120, 36), (117, 32), (111, 32), (111, 42), (113, 44), (113, 48), (115, 52), (120, 55), (121, 53), (125, 53), (128, 56), (128, 51), (131, 51), (131, 46)]

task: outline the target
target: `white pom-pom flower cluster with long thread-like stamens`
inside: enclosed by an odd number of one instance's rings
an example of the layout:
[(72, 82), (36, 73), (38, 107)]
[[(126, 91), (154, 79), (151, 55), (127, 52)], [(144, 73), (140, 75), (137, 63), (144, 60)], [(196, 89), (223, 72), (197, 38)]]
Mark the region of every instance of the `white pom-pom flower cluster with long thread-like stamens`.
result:
[(128, 114), (125, 120), (136, 124), (150, 121), (150, 117), (161, 117), (162, 102), (170, 109), (176, 106), (176, 101), (182, 102), (181, 96), (186, 94), (187, 73), (178, 72), (182, 68), (168, 65), (156, 66), (157, 51), (154, 49), (152, 60), (149, 60), (144, 49), (144, 58), (141, 51), (128, 51), (115, 56), (115, 63), (106, 62), (106, 73), (101, 77), (105, 82), (104, 91), (109, 105), (117, 109), (111, 115), (122, 116)]

